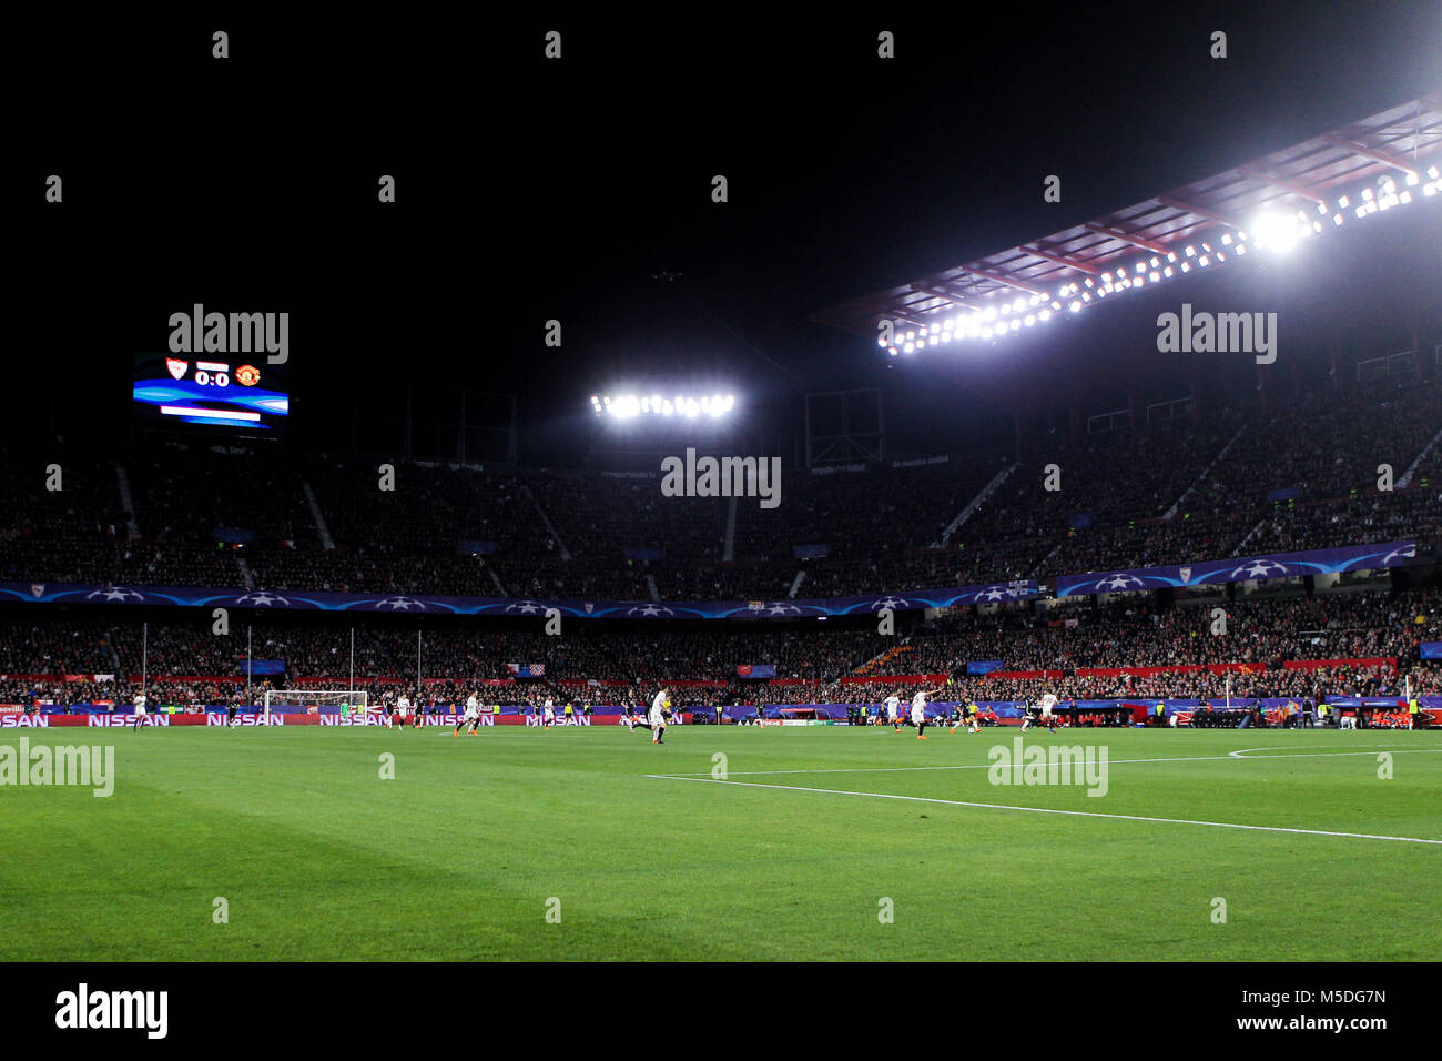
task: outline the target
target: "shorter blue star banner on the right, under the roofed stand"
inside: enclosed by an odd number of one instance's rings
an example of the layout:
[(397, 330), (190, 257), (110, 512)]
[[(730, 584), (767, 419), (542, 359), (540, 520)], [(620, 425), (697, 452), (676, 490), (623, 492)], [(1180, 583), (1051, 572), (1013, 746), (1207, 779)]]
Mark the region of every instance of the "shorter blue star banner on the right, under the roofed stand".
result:
[(1198, 560), (1168, 567), (1066, 575), (1057, 579), (1057, 596), (1135, 593), (1146, 589), (1216, 586), (1250, 579), (1289, 579), (1299, 575), (1337, 575), (1377, 567), (1397, 567), (1416, 557), (1415, 541), (1376, 546), (1314, 549), (1306, 553), (1273, 553), (1230, 560)]

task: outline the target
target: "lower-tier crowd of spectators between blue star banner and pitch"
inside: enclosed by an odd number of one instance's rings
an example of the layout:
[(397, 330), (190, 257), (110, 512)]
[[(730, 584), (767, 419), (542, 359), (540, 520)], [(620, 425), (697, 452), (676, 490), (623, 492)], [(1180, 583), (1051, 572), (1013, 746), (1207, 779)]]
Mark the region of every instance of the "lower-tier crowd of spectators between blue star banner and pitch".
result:
[[(1217, 612), (1221, 612), (1218, 616)], [(26, 616), (29, 618), (29, 616)], [(208, 618), (208, 616), (206, 616)], [(1221, 625), (1224, 624), (1224, 625)], [(1050, 611), (1012, 605), (991, 614), (963, 609), (895, 637), (872, 628), (770, 625), (653, 628), (572, 624), (565, 637), (513, 626), (358, 626), (258, 624), (252, 660), (280, 661), (275, 676), (251, 674), (252, 696), (274, 687), (356, 687), (375, 697), (410, 687), (421, 699), (538, 702), (583, 693), (645, 699), (665, 683), (688, 686), (694, 703), (874, 702), (903, 678), (950, 680), (946, 699), (1305, 696), (1318, 689), (1389, 694), (1405, 670), (1415, 687), (1436, 691), (1442, 670), (1419, 660), (1422, 641), (1442, 639), (1438, 590), (1334, 590), (1184, 602), (1155, 609), (1144, 598), (1103, 608)], [(353, 641), (352, 641), (353, 638)], [(353, 655), (352, 655), (353, 644)], [(228, 703), (247, 687), (247, 638), (218, 635), (208, 622), (149, 622), (108, 616), (0, 622), (0, 702), (125, 700), (144, 678), (177, 702)], [(1354, 660), (1315, 668), (1291, 661)], [(969, 676), (968, 663), (996, 661), (1002, 674)], [(508, 665), (536, 677), (516, 677)], [(1227, 674), (1079, 674), (1092, 668), (1247, 664)], [(1399, 664), (1402, 668), (1399, 670)], [(770, 667), (769, 677), (741, 677)], [(1047, 671), (1047, 676), (1028, 677)], [(1057, 677), (1060, 674), (1060, 677)], [(25, 677), (17, 677), (25, 676)], [(855, 681), (867, 677), (875, 684)], [(844, 678), (852, 678), (844, 681)], [(895, 690), (887, 678), (897, 678)], [(588, 683), (588, 684), (587, 684)], [(580, 689), (581, 693), (575, 690)], [(485, 694), (483, 694), (485, 696)]]

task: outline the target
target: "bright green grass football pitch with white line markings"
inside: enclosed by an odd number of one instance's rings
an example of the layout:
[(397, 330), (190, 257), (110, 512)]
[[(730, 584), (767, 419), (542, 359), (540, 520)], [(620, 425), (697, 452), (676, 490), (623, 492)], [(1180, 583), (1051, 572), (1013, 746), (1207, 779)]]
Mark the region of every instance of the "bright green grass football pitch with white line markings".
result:
[(933, 733), (7, 729), (0, 959), (1442, 959), (1442, 735)]

